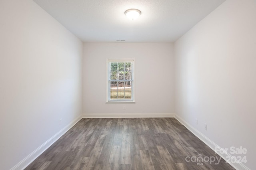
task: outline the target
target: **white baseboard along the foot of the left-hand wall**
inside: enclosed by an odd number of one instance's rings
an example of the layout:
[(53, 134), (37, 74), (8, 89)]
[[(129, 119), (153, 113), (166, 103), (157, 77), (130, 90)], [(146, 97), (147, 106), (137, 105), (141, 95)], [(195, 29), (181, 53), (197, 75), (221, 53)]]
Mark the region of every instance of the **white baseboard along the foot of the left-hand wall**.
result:
[(46, 149), (48, 149), (56, 140), (58, 140), (63, 134), (65, 134), (70, 128), (72, 128), (78, 121), (82, 119), (81, 116), (76, 118), (74, 121), (72, 121), (70, 124), (66, 125), (64, 128), (62, 128), (59, 132), (54, 134), (50, 139), (48, 139), (44, 144), (39, 146), (36, 150), (34, 150), (31, 154), (26, 156), (22, 161), (20, 161), (18, 164), (16, 164), (14, 167), (11, 168), (11, 170), (23, 170), (26, 168), (31, 162), (33, 162), (40, 154), (42, 154)]

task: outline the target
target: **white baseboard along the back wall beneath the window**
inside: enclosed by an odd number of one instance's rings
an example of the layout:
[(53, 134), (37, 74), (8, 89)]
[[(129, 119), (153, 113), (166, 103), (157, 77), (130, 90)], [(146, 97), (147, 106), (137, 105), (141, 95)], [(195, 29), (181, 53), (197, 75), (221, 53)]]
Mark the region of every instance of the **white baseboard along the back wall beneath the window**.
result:
[(138, 117), (174, 117), (174, 113), (120, 113), (120, 114), (94, 114), (85, 113), (82, 118), (138, 118)]

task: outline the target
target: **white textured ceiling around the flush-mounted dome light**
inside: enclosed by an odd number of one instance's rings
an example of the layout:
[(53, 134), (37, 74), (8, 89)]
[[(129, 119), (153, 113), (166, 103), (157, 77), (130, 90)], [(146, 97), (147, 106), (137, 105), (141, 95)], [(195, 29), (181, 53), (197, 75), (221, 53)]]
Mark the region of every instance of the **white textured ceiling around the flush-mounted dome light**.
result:
[[(83, 42), (174, 42), (225, 0), (34, 0)], [(124, 11), (142, 14), (129, 20)]]

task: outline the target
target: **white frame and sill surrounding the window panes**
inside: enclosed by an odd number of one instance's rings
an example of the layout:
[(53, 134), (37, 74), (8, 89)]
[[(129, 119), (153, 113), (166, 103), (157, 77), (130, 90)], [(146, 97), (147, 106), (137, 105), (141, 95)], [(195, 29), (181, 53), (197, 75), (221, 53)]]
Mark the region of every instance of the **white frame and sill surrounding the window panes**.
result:
[[(132, 62), (132, 99), (110, 99), (110, 74), (109, 63), (111, 62)], [(122, 58), (122, 59), (106, 59), (106, 103), (135, 103), (135, 59)]]

